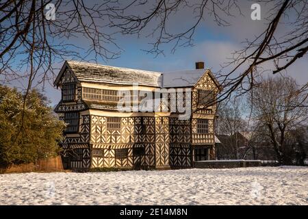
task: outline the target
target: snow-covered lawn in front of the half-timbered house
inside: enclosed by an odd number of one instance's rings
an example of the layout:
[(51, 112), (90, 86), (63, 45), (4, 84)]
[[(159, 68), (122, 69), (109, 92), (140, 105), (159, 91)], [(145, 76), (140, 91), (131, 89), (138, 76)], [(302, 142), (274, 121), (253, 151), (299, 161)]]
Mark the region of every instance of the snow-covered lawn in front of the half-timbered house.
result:
[(0, 175), (0, 205), (307, 205), (308, 168)]

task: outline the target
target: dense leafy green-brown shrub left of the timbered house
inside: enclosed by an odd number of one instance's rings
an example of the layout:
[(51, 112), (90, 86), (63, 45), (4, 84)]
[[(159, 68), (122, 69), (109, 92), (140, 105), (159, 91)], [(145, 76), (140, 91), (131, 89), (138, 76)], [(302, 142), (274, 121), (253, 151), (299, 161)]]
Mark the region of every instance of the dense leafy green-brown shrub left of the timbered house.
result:
[(64, 122), (53, 114), (47, 99), (31, 90), (24, 96), (0, 86), (0, 165), (27, 164), (57, 155)]

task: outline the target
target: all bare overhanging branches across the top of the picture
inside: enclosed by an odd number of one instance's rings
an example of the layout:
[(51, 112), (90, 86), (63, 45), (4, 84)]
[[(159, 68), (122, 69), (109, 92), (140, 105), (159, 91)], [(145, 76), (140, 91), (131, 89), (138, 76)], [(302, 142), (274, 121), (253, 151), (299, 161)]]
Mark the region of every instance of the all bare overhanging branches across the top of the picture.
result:
[[(264, 1), (254, 1), (262, 3)], [(117, 34), (136, 34), (152, 37), (154, 55), (164, 53), (162, 44), (177, 47), (192, 44), (197, 27), (205, 18), (213, 18), (217, 25), (230, 25), (229, 16), (242, 12), (237, 0), (157, 0), (91, 3), (73, 0), (53, 1), (56, 19), (45, 18), (45, 7), (51, 0), (7, 0), (0, 3), (0, 75), (5, 81), (27, 78), (26, 90), (34, 81), (44, 83), (54, 74), (53, 62), (66, 58), (79, 60), (110, 59), (120, 55)], [(255, 38), (247, 39), (243, 49), (235, 51), (234, 66), (220, 73), (218, 80), (224, 87), (216, 101), (223, 101), (235, 90), (243, 94), (255, 86), (255, 76), (264, 64), (272, 64), (273, 73), (281, 72), (303, 57), (308, 51), (308, 5), (303, 0), (269, 0), (271, 13), (265, 18), (268, 25)], [(193, 23), (174, 31), (170, 20), (190, 10)], [(295, 14), (295, 16), (291, 16)], [(285, 33), (277, 33), (285, 27)], [(84, 42), (84, 51), (78, 44)], [(80, 45), (81, 46), (81, 45)], [(307, 88), (304, 86), (304, 90)], [(27, 95), (25, 95), (27, 96)]]

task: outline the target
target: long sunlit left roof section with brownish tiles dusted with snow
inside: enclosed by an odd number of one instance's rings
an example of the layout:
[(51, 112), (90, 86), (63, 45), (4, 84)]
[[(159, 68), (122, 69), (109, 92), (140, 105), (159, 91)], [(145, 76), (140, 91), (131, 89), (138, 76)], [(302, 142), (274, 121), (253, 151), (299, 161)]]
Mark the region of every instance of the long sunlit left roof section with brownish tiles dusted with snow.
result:
[[(120, 85), (138, 83), (139, 85), (153, 87), (160, 87), (162, 85), (162, 73), (147, 70), (103, 66), (100, 64), (75, 61), (66, 61), (64, 66), (68, 66), (68, 68), (73, 71), (79, 82), (112, 83)], [(62, 68), (55, 79), (55, 85), (60, 80), (64, 69), (65, 67)]]

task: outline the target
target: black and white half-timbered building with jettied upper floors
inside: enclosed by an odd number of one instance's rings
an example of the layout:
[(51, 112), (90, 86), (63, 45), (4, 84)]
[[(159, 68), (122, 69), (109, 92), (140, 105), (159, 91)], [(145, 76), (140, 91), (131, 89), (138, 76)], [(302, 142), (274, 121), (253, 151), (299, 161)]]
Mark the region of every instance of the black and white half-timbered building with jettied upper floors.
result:
[[(54, 85), (62, 90), (55, 112), (67, 123), (60, 142), (64, 168), (190, 168), (194, 161), (215, 157), (216, 105), (204, 103), (215, 99), (220, 86), (203, 62), (194, 70), (157, 73), (67, 61)], [(169, 92), (162, 101), (167, 110), (160, 101), (160, 110), (140, 110), (138, 103), (146, 97), (140, 93), (153, 93), (155, 105), (157, 90)], [(172, 92), (184, 90), (183, 103), (190, 108), (185, 119), (183, 112), (170, 111), (177, 97)], [(128, 91), (132, 100), (125, 110), (118, 107), (119, 91), (125, 98)]]

